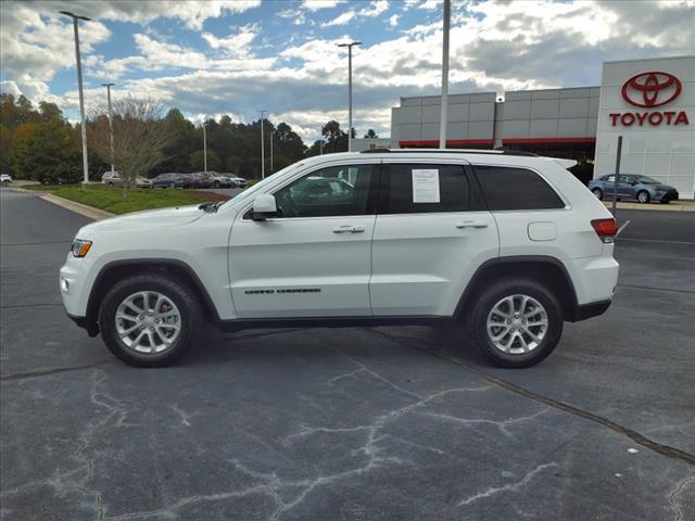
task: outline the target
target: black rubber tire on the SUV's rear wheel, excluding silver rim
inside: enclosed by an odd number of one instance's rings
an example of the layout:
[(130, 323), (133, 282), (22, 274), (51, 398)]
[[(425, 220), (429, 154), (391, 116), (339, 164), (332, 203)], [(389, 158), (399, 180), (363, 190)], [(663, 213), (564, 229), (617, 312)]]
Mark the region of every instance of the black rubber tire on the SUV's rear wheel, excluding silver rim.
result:
[[(539, 345), (527, 353), (505, 353), (494, 345), (488, 334), (488, 316), (501, 300), (510, 295), (528, 295), (535, 298), (545, 308), (547, 315), (548, 325), (545, 335)], [(563, 334), (563, 308), (553, 292), (536, 280), (502, 279), (477, 296), (468, 326), (473, 341), (494, 365), (507, 368), (529, 367), (543, 360), (557, 346)], [(515, 345), (515, 342), (513, 340), (511, 345)]]

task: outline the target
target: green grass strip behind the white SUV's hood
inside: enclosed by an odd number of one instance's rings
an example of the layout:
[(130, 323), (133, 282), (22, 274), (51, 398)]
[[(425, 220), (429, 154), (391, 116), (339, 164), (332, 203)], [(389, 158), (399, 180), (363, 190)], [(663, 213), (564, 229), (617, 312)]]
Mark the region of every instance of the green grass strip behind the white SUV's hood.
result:
[(22, 188), (50, 192), (60, 198), (87, 204), (94, 208), (105, 209), (113, 214), (127, 214), (141, 209), (184, 206), (187, 204), (200, 204), (206, 201), (228, 199), (216, 193), (195, 190), (148, 188), (128, 190), (126, 199), (123, 199), (123, 191), (119, 188), (108, 188), (101, 185), (87, 186), (85, 190), (83, 190), (80, 185), (30, 185)]

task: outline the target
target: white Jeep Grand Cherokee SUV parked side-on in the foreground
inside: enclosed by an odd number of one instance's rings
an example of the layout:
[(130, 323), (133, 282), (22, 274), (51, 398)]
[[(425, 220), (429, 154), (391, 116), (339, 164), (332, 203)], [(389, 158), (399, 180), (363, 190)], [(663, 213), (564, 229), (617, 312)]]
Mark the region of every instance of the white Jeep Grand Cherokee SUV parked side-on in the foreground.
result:
[(170, 363), (204, 322), (453, 320), (493, 363), (530, 366), (564, 321), (604, 313), (617, 283), (615, 220), (571, 164), (513, 151), (311, 157), (224, 204), (81, 228), (63, 303), (137, 366)]

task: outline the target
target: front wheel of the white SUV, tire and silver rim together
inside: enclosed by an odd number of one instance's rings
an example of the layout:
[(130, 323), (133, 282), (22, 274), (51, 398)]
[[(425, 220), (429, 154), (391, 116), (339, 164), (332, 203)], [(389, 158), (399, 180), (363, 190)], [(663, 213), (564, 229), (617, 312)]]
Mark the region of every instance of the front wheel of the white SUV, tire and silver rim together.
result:
[(166, 366), (194, 338), (201, 317), (194, 294), (179, 281), (141, 274), (117, 282), (104, 296), (99, 328), (109, 351), (139, 367)]

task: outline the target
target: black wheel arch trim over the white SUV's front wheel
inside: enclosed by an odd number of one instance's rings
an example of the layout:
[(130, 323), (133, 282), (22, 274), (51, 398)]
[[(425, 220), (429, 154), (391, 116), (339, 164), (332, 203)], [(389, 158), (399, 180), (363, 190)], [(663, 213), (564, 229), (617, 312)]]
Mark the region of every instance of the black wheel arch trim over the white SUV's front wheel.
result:
[(101, 300), (113, 283), (124, 277), (138, 274), (167, 275), (191, 290), (199, 300), (203, 317), (219, 321), (219, 314), (205, 285), (195, 271), (185, 262), (173, 258), (134, 258), (105, 264), (97, 275), (87, 301), (86, 326), (90, 336), (99, 332), (98, 317)]

